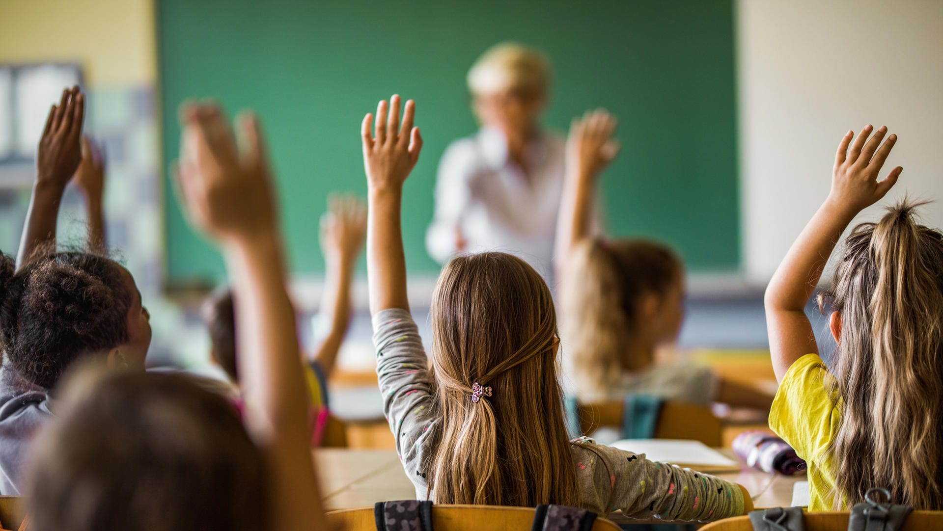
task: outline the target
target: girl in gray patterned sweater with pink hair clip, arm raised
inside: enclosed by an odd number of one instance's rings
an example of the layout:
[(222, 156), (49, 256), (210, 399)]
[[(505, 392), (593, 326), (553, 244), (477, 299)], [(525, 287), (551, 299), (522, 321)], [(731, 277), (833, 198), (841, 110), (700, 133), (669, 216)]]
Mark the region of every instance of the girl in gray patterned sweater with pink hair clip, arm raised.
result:
[[(417, 495), (445, 504), (562, 504), (705, 521), (742, 514), (736, 484), (644, 456), (568, 442), (556, 317), (538, 272), (501, 252), (455, 258), (433, 296), (432, 361), (409, 314), (400, 209), (422, 137), (415, 105), (380, 102), (362, 125), (367, 263), (384, 409)], [(389, 114), (389, 125), (388, 125)], [(431, 364), (431, 367), (429, 366)]]

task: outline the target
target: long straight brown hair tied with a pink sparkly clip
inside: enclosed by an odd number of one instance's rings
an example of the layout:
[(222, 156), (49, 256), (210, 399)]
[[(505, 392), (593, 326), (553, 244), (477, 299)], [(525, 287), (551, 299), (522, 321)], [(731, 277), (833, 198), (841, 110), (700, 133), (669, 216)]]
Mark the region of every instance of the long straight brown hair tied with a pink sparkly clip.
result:
[[(436, 501), (577, 504), (546, 283), (509, 254), (462, 256), (442, 271), (431, 310)], [(492, 390), (477, 402), (476, 382)]]

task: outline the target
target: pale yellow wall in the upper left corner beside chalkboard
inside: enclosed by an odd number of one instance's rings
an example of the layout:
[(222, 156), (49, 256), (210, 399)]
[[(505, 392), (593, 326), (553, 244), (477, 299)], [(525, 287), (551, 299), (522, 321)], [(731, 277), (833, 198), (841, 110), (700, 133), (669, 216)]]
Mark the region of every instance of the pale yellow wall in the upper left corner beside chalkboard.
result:
[(92, 87), (157, 80), (154, 0), (0, 0), (0, 63), (81, 64)]

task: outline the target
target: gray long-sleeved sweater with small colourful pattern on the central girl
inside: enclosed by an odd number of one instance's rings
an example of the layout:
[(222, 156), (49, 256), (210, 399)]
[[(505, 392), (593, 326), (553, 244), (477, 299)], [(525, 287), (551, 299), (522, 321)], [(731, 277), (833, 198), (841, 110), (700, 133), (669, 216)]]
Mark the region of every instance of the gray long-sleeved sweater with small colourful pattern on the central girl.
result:
[[(430, 377), (419, 330), (405, 310), (384, 310), (373, 315), (373, 345), (396, 453), (417, 498), (424, 499), (438, 419), (430, 414)], [(743, 514), (739, 487), (712, 475), (650, 461), (644, 454), (586, 438), (574, 441), (571, 452), (568, 466), (576, 468), (581, 506), (597, 514), (621, 510), (633, 518), (700, 522)]]

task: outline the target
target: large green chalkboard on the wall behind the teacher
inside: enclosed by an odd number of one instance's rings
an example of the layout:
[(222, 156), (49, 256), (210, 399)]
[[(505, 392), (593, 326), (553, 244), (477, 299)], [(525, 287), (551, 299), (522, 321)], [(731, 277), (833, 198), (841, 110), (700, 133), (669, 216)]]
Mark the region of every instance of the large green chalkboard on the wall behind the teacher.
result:
[[(465, 73), (502, 40), (551, 57), (549, 127), (565, 131), (589, 107), (619, 117), (623, 149), (603, 184), (612, 233), (661, 238), (695, 270), (739, 264), (732, 0), (159, 0), (157, 12), (165, 167), (182, 101), (255, 109), (296, 273), (323, 269), (328, 193), (366, 191), (360, 121), (393, 92), (416, 100), (425, 139), (405, 188), (407, 266), (438, 271), (424, 247), (438, 158), (475, 131)], [(222, 278), (169, 180), (165, 191), (169, 280)]]

